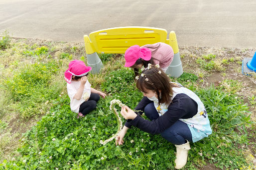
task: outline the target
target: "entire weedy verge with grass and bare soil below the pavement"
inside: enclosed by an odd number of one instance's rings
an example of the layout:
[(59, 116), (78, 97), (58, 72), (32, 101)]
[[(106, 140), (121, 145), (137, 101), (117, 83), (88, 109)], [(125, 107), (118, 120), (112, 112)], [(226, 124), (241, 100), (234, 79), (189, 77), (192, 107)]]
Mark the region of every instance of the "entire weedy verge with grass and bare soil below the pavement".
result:
[[(122, 55), (100, 55), (105, 66), (88, 79), (108, 97), (77, 119), (69, 108), (63, 73), (73, 59), (86, 62), (84, 44), (5, 37), (0, 46), (0, 170), (173, 169), (175, 147), (160, 135), (132, 128), (123, 146), (100, 144), (118, 129), (110, 101), (119, 99), (134, 108), (142, 97)], [(171, 80), (198, 94), (213, 129), (191, 145), (185, 169), (255, 166), (256, 75), (241, 73), (242, 59), (255, 51), (180, 47), (184, 73)]]

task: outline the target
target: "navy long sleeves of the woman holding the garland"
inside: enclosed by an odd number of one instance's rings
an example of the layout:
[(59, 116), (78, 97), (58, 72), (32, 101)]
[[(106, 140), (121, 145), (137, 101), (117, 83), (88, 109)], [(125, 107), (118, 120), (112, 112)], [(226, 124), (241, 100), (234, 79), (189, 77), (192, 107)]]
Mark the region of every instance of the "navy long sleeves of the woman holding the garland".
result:
[(135, 110), (137, 116), (132, 120), (128, 119), (125, 126), (130, 128), (131, 126), (137, 127), (140, 130), (151, 134), (158, 134), (169, 128), (178, 119), (191, 118), (197, 114), (197, 103), (184, 93), (177, 94), (173, 99), (168, 110), (157, 119), (149, 121), (141, 117), (144, 112), (144, 108), (147, 104), (152, 103), (147, 97), (143, 97), (136, 106)]

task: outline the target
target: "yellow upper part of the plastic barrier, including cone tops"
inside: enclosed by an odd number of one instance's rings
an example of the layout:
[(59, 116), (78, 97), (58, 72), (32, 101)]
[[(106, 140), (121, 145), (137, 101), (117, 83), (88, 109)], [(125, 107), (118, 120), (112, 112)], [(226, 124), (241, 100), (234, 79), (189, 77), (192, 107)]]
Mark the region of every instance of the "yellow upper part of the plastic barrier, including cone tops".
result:
[(179, 52), (175, 32), (171, 31), (169, 39), (166, 39), (167, 31), (161, 28), (116, 27), (92, 32), (89, 37), (84, 35), (87, 54), (95, 52), (122, 54), (130, 46), (143, 46), (157, 42), (169, 44), (173, 48), (174, 54)]

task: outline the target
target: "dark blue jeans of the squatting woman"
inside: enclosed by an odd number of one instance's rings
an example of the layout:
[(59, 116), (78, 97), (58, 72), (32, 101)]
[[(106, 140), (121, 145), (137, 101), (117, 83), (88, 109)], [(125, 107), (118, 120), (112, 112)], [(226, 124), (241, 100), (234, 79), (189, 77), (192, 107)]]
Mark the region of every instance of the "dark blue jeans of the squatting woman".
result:
[[(159, 117), (153, 103), (150, 103), (145, 107), (144, 113), (150, 120), (154, 120)], [(188, 125), (180, 120), (176, 121), (160, 134), (164, 139), (174, 145), (182, 145), (186, 143), (186, 140), (192, 142), (192, 134)]]

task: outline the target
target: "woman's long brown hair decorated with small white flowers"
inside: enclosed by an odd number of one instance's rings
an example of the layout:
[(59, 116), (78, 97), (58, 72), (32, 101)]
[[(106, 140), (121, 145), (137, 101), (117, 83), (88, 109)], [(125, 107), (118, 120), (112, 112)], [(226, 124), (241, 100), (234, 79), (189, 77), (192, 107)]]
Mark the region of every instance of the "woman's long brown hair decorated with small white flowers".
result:
[[(146, 93), (146, 90), (155, 91), (158, 98), (158, 104), (165, 103), (166, 105), (169, 105), (172, 102), (172, 87), (179, 86), (170, 83), (170, 78), (163, 72), (163, 70), (151, 66), (150, 69), (143, 70), (141, 75), (139, 75), (136, 87), (143, 93)], [(161, 91), (161, 94), (159, 93), (159, 90)]]

